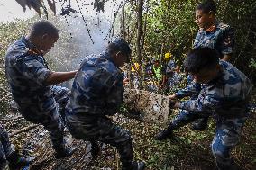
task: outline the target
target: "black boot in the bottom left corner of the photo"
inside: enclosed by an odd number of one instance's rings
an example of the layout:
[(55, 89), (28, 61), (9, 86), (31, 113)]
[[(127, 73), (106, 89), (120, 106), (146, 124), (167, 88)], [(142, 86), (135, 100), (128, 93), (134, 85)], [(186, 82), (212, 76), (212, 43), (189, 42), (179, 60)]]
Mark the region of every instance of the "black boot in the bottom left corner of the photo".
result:
[(9, 169), (10, 170), (18, 170), (23, 167), (29, 166), (30, 163), (35, 159), (35, 157), (26, 157), (23, 158), (18, 153), (18, 151), (14, 151), (10, 156), (7, 157), (9, 162)]

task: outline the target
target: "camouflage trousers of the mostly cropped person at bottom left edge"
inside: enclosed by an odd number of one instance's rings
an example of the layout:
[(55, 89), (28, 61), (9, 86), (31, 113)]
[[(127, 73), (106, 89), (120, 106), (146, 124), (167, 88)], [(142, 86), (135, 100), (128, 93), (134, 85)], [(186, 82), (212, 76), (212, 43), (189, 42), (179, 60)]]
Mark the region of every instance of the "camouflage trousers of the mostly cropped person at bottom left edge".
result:
[(7, 131), (0, 124), (0, 169), (4, 169), (6, 157), (14, 152), (14, 145), (10, 142)]

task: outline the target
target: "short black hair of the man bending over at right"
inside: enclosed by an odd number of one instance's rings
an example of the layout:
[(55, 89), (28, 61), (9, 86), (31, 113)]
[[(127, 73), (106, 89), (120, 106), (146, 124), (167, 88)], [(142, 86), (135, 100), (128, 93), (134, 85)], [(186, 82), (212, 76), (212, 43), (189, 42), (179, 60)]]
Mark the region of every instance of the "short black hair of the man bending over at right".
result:
[(204, 68), (214, 68), (219, 63), (219, 53), (212, 48), (192, 49), (184, 60), (184, 67), (189, 73), (197, 74)]

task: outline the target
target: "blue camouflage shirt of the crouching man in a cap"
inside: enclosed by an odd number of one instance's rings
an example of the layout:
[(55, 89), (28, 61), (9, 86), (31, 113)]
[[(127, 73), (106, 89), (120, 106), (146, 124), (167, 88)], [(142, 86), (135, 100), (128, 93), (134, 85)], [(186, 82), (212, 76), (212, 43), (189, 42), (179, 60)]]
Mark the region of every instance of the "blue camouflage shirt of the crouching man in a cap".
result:
[(123, 73), (104, 52), (83, 61), (72, 85), (67, 115), (114, 115), (123, 102)]

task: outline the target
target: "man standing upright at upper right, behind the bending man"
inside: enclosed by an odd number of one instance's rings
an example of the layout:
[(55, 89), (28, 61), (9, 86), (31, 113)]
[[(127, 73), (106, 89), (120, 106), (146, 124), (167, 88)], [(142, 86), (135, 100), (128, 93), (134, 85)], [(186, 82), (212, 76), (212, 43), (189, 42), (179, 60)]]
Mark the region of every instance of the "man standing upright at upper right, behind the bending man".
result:
[[(233, 28), (215, 18), (216, 5), (213, 0), (205, 0), (197, 5), (196, 21), (199, 27), (193, 48), (210, 47), (220, 53), (220, 58), (229, 61), (233, 54)], [(193, 77), (188, 76), (188, 84)], [(201, 90), (197, 85), (197, 92)], [(197, 97), (197, 94), (193, 97)], [(195, 121), (192, 125), (194, 130), (204, 130), (207, 127), (207, 117)]]

